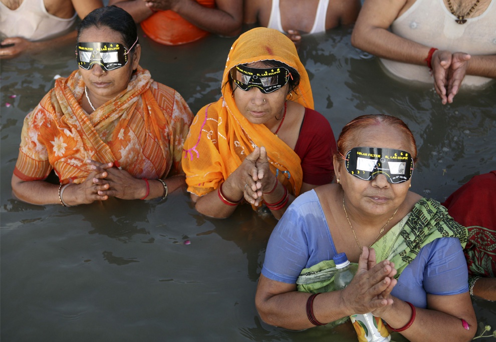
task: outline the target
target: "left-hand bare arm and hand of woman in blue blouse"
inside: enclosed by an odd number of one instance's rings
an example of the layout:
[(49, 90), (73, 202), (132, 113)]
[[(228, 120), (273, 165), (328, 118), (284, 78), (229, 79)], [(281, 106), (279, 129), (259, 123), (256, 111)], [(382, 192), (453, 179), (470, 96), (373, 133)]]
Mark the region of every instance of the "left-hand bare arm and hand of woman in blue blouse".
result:
[[(322, 293), (313, 302), (315, 318), (328, 323), (354, 313), (366, 313), (378, 307), (392, 304), (392, 300), (378, 299), (382, 291), (392, 288), (391, 280), (396, 272), (388, 260), (375, 265), (375, 253), (363, 248), (359, 260), (359, 271), (343, 290)], [(374, 264), (367, 270), (367, 264)], [(391, 277), (389, 277), (391, 276)], [(306, 313), (310, 293), (296, 291), (296, 284), (287, 284), (260, 276), (255, 304), (262, 319), (272, 325), (293, 330), (306, 329), (314, 325)]]

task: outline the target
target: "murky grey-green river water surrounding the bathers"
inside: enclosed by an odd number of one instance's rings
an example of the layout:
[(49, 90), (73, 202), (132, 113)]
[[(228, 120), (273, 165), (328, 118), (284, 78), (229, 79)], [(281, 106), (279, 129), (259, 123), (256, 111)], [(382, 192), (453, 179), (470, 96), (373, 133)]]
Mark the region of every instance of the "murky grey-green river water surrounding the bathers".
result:
[[(139, 32), (141, 66), (176, 89), (194, 113), (218, 98), (233, 38), (166, 47)], [(376, 58), (351, 46), (350, 33), (304, 37), (299, 49), (315, 108), (336, 137), (358, 115), (401, 118), (419, 151), (412, 191), (439, 201), (496, 169), (496, 86), (464, 91), (443, 106), (432, 87), (385, 75)], [(72, 49), (0, 65), (2, 341), (355, 341), (349, 327), (288, 331), (261, 321), (254, 296), (277, 223), (268, 214), (245, 206), (228, 219), (206, 218), (184, 189), (164, 203), (69, 208), (13, 197), (23, 119), (55, 75), (77, 68)], [(496, 328), (496, 305), (474, 305), (479, 325)]]

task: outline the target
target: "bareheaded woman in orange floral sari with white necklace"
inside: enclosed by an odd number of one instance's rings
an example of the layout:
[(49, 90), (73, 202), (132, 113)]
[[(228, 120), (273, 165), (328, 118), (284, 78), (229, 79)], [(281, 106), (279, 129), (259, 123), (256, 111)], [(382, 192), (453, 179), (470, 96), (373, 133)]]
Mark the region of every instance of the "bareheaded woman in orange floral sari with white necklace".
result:
[[(100, 8), (85, 17), (79, 69), (57, 79), (24, 121), (12, 176), (18, 198), (64, 206), (164, 199), (184, 184), (180, 156), (192, 113), (139, 66), (140, 54), (136, 25), (124, 10)], [(46, 181), (52, 170), (60, 185)]]

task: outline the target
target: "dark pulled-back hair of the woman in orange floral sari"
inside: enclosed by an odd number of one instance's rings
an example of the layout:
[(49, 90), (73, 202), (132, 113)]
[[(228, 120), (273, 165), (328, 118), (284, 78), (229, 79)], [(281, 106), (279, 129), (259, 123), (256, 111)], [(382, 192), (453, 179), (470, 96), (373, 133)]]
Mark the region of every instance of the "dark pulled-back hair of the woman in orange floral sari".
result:
[[(118, 32), (122, 36), (124, 44), (129, 49), (130, 57), (133, 56), (136, 49), (138, 31), (133, 17), (123, 9), (117, 6), (100, 7), (90, 12), (78, 25), (78, 42), (84, 30), (91, 27), (108, 27), (109, 29)], [(134, 44), (136, 42), (136, 44)], [(134, 44), (134, 46), (133, 46)]]

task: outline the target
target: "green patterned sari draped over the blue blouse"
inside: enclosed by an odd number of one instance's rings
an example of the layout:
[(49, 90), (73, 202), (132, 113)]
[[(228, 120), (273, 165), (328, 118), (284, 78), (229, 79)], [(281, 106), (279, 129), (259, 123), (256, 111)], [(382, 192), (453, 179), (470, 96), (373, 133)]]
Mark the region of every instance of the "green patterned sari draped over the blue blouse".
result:
[[(394, 262), (398, 271), (397, 279), (406, 266), (415, 259), (420, 248), (440, 237), (457, 237), (462, 247), (467, 243), (468, 232), (465, 227), (452, 220), (447, 210), (437, 201), (420, 199), (412, 211), (393, 226), (372, 247), (375, 249), (377, 262), (388, 259)], [(357, 263), (351, 263), (357, 265)], [(336, 290), (334, 275), (336, 264), (333, 260), (324, 260), (302, 270), (298, 277), (297, 289), (301, 292), (317, 293)], [(346, 321), (344, 317), (331, 322), (335, 326)]]

